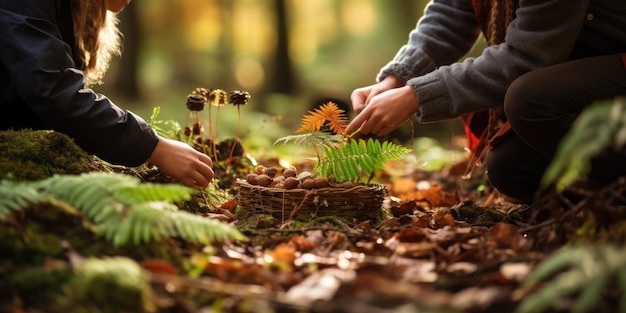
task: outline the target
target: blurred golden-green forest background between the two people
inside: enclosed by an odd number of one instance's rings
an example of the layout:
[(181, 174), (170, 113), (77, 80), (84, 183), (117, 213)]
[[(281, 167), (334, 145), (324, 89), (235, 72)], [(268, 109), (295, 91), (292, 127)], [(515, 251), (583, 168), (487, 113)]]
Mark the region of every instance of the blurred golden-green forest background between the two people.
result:
[[(196, 87), (248, 91), (241, 136), (255, 149), (271, 149), (317, 105), (333, 101), (351, 114), (352, 90), (375, 82), (427, 3), (134, 0), (119, 16), (123, 55), (95, 89), (146, 119), (158, 107), (159, 119), (183, 126), (191, 121), (186, 96)], [(218, 139), (232, 137), (236, 108), (222, 108), (219, 119)], [(435, 145), (462, 154), (461, 133), (458, 120), (413, 122), (394, 137), (417, 150)]]

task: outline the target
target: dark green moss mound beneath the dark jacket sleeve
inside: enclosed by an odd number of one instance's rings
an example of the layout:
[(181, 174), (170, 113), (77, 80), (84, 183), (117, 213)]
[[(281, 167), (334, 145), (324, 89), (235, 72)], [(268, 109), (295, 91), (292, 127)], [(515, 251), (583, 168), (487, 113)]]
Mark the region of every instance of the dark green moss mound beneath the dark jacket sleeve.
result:
[(54, 131), (0, 132), (0, 179), (34, 181), (54, 174), (92, 171), (94, 158)]

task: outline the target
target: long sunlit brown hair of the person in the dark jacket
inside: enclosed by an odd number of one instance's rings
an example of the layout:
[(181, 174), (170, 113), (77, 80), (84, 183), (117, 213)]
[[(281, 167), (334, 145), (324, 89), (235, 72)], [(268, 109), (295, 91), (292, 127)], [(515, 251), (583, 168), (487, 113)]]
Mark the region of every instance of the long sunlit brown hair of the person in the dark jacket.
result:
[(78, 58), (83, 63), (85, 85), (101, 84), (109, 62), (120, 54), (117, 15), (104, 0), (71, 0)]

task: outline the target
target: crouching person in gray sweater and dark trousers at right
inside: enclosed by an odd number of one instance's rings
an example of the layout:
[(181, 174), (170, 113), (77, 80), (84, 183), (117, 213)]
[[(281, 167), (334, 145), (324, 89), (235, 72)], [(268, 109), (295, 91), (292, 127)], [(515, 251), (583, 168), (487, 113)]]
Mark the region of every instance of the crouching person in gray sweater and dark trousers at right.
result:
[[(487, 48), (460, 60), (481, 33)], [(489, 151), (494, 187), (531, 203), (580, 112), (626, 95), (624, 53), (626, 1), (434, 0), (377, 83), (353, 91), (347, 132), (384, 136), (411, 116), (461, 117), (478, 139), (474, 156)], [(626, 174), (626, 157), (611, 160), (596, 162), (590, 177)]]

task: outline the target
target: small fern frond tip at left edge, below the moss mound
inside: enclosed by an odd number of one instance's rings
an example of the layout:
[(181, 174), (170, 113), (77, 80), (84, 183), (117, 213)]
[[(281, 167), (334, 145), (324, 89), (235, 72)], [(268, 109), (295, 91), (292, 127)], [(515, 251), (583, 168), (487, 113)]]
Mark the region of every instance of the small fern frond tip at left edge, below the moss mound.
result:
[(34, 188), (23, 183), (0, 181), (0, 220), (12, 211), (20, 211), (30, 203), (37, 203), (43, 197)]

